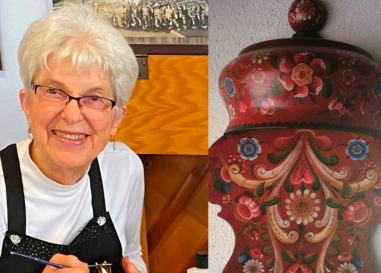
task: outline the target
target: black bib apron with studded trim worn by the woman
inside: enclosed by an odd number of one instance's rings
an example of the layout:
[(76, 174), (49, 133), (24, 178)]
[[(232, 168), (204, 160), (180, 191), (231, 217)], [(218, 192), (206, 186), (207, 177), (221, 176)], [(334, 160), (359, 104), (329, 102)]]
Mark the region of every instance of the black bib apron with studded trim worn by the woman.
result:
[[(94, 218), (69, 245), (59, 245), (25, 234), (25, 201), (16, 144), (2, 150), (0, 156), (8, 207), (8, 231), (5, 234), (0, 257), (0, 273), (38, 273), (45, 268), (45, 265), (35, 261), (11, 255), (10, 251), (44, 260), (50, 260), (56, 253), (71, 254), (89, 265), (104, 261), (112, 263), (112, 273), (124, 273), (121, 264), (122, 247), (110, 215), (106, 212), (97, 159), (93, 161), (89, 171)], [(98, 270), (91, 268), (90, 272)]]

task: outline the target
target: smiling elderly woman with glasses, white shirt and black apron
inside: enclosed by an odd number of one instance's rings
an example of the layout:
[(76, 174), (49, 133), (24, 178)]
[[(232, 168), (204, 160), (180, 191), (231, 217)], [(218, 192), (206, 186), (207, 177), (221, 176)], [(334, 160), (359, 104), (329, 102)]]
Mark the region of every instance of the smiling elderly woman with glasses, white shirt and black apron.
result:
[(90, 7), (64, 5), (30, 26), (19, 65), (30, 134), (0, 152), (0, 272), (146, 272), (142, 165), (109, 143), (138, 74), (131, 48)]

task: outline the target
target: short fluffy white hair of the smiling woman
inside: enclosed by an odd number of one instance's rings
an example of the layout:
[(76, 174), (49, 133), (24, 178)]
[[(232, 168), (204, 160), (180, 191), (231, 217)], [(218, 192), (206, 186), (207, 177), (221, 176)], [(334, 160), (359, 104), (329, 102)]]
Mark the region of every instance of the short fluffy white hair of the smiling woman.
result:
[(117, 112), (125, 105), (138, 76), (138, 64), (125, 38), (88, 5), (61, 3), (35, 21), (21, 40), (20, 76), (29, 89), (47, 59), (70, 58), (72, 67), (101, 67), (109, 75)]

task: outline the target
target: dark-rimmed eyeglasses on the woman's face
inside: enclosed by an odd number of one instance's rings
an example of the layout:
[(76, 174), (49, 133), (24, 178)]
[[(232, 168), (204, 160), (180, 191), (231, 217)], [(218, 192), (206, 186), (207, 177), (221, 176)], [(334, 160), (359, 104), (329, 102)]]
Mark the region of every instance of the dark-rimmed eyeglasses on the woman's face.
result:
[(94, 95), (73, 97), (65, 91), (51, 86), (34, 84), (32, 88), (38, 97), (50, 102), (52, 105), (64, 107), (71, 100), (76, 100), (82, 114), (92, 119), (103, 118), (104, 114), (110, 111), (116, 104), (115, 100)]

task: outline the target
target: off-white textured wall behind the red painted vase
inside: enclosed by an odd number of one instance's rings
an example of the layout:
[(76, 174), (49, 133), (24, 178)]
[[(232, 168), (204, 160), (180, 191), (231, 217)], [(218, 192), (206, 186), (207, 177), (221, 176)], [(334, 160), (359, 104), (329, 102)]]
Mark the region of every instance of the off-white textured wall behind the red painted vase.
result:
[[(356, 45), (381, 64), (381, 1), (323, 0), (328, 11), (325, 39)], [(218, 94), (222, 68), (244, 47), (265, 40), (291, 38), (287, 14), (292, 0), (209, 1), (209, 145), (227, 128), (229, 116)], [(234, 233), (209, 204), (209, 272), (222, 272), (234, 248)], [(237, 271), (238, 272), (238, 271)]]

